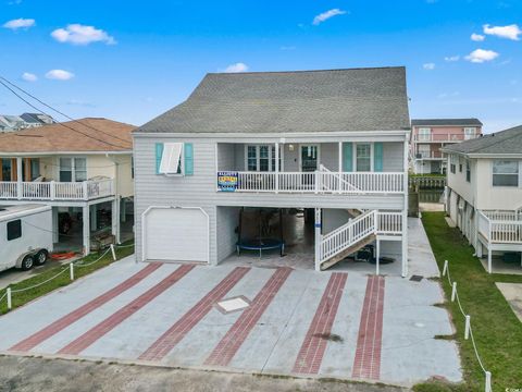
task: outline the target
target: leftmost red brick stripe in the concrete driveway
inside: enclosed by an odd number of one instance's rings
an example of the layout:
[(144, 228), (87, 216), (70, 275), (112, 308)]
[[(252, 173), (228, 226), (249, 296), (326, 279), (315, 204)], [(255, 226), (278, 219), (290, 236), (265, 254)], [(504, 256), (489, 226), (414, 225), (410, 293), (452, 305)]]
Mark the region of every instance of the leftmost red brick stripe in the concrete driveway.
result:
[(47, 326), (46, 328), (24, 339), (20, 343), (16, 343), (9, 350), (17, 351), (17, 352), (27, 352), (36, 347), (38, 344), (42, 343), (47, 339), (51, 338), (52, 335), (57, 334), (61, 330), (71, 326), (73, 322), (79, 320), (82, 317), (88, 315), (92, 310), (96, 310), (97, 308), (99, 308), (103, 304), (107, 304), (109, 301), (111, 301), (115, 296), (133, 287), (134, 285), (142, 281), (145, 278), (147, 278), (149, 274), (154, 272), (160, 267), (161, 267), (161, 262), (149, 264), (147, 267), (139, 270), (134, 275), (123, 281), (119, 285), (97, 296), (95, 299), (88, 302), (87, 304), (78, 307), (76, 310), (73, 310), (70, 314), (61, 317), (57, 321)]

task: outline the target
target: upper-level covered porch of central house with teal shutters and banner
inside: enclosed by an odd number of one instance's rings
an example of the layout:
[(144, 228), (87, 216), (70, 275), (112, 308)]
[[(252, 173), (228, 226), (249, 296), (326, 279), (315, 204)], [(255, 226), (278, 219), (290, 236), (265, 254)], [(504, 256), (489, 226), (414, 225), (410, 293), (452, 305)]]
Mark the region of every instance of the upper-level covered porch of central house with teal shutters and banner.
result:
[(216, 191), (403, 194), (401, 142), (219, 143)]

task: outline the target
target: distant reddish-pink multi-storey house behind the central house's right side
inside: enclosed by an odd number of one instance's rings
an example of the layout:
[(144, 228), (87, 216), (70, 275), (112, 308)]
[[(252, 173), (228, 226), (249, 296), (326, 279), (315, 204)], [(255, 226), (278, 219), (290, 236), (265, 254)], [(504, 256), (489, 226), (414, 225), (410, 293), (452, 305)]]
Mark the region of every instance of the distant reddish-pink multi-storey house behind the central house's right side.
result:
[(445, 173), (445, 146), (482, 135), (477, 119), (411, 120), (410, 160), (415, 174)]

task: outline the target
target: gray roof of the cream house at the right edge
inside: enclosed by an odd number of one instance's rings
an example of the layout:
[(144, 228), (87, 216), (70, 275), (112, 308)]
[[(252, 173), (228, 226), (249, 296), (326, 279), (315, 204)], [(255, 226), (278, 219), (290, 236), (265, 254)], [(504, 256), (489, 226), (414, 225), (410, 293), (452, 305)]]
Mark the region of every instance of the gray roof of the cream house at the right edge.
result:
[(522, 154), (522, 125), (444, 148), (461, 154)]

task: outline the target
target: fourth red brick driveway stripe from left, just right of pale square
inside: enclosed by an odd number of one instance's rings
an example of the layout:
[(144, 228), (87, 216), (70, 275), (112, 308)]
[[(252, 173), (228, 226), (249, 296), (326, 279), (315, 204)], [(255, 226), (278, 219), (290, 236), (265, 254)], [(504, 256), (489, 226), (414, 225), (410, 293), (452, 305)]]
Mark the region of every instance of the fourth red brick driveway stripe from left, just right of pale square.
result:
[(276, 269), (263, 289), (256, 295), (251, 305), (243, 311), (241, 316), (239, 316), (228, 332), (226, 332), (220, 343), (217, 343), (214, 351), (207, 358), (206, 365), (227, 366), (229, 364), (290, 272), (291, 269), (287, 267)]

